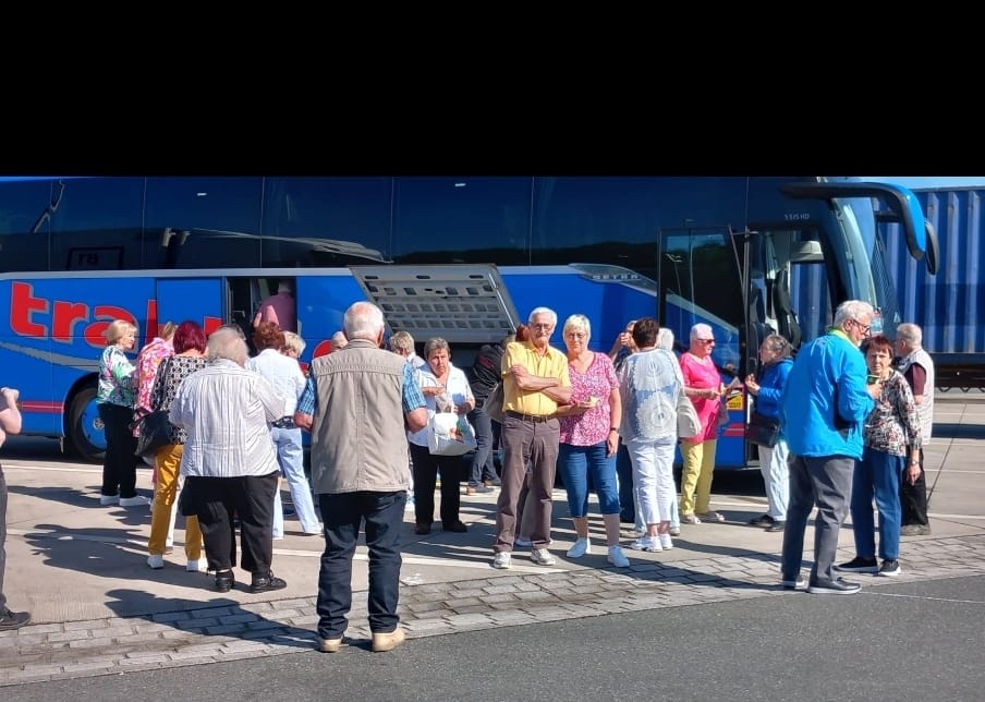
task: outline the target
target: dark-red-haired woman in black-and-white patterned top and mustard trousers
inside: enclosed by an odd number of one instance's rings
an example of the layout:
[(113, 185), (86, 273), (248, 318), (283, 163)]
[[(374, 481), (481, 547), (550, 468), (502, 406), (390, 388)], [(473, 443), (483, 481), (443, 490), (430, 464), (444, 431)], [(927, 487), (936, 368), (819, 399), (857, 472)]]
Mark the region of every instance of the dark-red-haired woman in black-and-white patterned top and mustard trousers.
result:
[[(205, 331), (195, 322), (186, 320), (178, 325), (173, 340), (174, 355), (169, 356), (156, 371), (149, 399), (149, 409), (169, 411), (182, 382), (205, 367)], [(178, 501), (179, 468), (187, 434), (171, 426), (171, 441), (154, 457), (157, 480), (154, 484), (154, 510), (150, 518), (150, 538), (147, 540), (147, 565), (159, 570), (165, 567), (168, 537), (174, 529), (174, 505)], [(185, 556), (189, 572), (205, 572), (208, 568), (202, 557), (202, 530), (194, 515), (185, 519)]]

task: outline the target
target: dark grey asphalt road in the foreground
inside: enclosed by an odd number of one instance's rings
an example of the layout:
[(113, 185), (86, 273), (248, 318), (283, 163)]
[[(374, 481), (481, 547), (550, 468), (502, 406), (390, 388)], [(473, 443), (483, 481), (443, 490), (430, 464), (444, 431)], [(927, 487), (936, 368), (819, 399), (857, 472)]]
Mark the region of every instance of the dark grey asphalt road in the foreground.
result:
[(981, 700), (983, 625), (977, 576), (36, 682), (3, 700)]

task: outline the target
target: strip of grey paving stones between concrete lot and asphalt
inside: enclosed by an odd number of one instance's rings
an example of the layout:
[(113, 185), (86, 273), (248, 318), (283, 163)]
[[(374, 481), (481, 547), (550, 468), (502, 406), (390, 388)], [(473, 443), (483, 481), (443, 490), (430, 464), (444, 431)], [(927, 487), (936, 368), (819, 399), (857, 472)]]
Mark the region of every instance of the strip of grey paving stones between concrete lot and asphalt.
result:
[[(839, 562), (853, 555), (842, 548)], [(884, 584), (985, 573), (985, 536), (908, 542), (902, 562), (897, 578), (855, 576), (863, 583), (863, 594)], [(399, 612), (408, 638), (803, 595), (779, 586), (778, 554), (654, 560), (627, 569), (501, 572), (455, 582), (404, 584)], [(315, 597), (214, 603), (198, 609), (28, 625), (0, 632), (0, 687), (284, 655), (311, 651), (317, 644)], [(365, 591), (354, 592), (346, 644), (368, 647), (365, 621)]]

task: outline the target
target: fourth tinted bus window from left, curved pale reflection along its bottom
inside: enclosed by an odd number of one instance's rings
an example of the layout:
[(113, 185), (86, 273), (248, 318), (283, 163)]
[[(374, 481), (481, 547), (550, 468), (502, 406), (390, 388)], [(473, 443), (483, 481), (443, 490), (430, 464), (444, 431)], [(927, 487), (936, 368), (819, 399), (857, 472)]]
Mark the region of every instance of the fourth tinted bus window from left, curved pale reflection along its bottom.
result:
[(390, 178), (268, 178), (268, 268), (379, 263), (390, 249)]

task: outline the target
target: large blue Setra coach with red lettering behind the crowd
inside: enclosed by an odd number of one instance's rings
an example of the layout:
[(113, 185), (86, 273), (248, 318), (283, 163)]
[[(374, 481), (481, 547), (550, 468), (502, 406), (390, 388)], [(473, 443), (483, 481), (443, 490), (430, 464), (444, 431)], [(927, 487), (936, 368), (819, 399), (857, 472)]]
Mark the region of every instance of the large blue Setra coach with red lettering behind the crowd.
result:
[[(587, 315), (597, 351), (642, 316), (682, 348), (694, 323), (712, 324), (715, 362), (744, 377), (765, 334), (796, 347), (823, 328), (799, 323), (805, 282), (827, 322), (849, 298), (880, 311), (874, 330), (899, 320), (884, 221), (936, 267), (912, 193), (850, 177), (3, 178), (2, 382), (21, 389), (24, 434), (99, 460), (96, 370), (112, 319), (137, 326), (137, 348), (168, 319), (248, 336), (282, 280), (304, 363), (366, 299), (388, 332), (446, 338), (460, 366), (546, 305), (561, 323)], [(729, 399), (718, 468), (754, 460), (746, 400)]]

